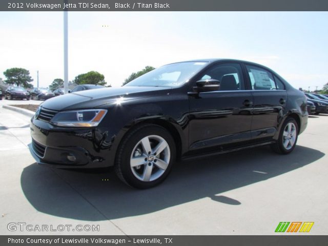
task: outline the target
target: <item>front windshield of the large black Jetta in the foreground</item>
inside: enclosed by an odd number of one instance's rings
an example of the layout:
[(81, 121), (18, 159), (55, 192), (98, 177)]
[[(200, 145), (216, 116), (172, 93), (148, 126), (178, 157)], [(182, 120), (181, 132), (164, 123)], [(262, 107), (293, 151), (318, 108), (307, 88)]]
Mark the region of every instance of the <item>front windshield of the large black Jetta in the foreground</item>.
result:
[(162, 66), (130, 81), (125, 86), (178, 87), (208, 65), (205, 61), (186, 61)]

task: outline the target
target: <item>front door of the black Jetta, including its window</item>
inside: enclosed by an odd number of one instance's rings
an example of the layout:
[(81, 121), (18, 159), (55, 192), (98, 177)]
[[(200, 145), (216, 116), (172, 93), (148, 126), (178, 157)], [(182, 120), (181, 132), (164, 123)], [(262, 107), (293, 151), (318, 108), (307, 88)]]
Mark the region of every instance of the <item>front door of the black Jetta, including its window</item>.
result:
[[(200, 74), (199, 79), (217, 79), (217, 91), (190, 96), (190, 151), (230, 148), (251, 138), (252, 94), (245, 90), (239, 63), (220, 63)], [(195, 85), (194, 85), (195, 86)]]

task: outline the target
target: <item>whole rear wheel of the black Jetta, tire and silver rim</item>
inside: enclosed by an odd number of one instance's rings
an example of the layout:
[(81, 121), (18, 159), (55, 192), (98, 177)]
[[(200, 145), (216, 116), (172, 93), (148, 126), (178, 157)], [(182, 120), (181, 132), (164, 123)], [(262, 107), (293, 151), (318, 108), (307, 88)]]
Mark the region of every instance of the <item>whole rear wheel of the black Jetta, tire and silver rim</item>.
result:
[(298, 138), (298, 125), (294, 118), (288, 117), (283, 122), (281, 130), (279, 132), (279, 138), (277, 142), (271, 145), (273, 151), (278, 154), (291, 153), (297, 142)]

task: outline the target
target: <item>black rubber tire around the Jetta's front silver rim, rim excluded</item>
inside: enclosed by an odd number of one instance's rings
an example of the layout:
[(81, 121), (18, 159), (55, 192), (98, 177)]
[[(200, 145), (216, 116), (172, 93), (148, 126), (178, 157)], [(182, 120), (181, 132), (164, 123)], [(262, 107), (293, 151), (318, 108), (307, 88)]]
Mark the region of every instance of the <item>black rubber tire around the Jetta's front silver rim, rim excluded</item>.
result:
[[(137, 142), (140, 141), (142, 138), (150, 135), (158, 135), (165, 139), (168, 142), (169, 148), (170, 148), (170, 162), (169, 166), (166, 169), (166, 171), (156, 180), (145, 182), (141, 181), (138, 178), (136, 178), (131, 170), (130, 167), (130, 157), (132, 154), (132, 151), (134, 147), (136, 146)], [(166, 179), (166, 177), (169, 175), (171, 168), (173, 166), (173, 162), (175, 161), (176, 156), (176, 150), (175, 150), (175, 143), (171, 136), (171, 134), (164, 128), (160, 126), (147, 126), (144, 128), (139, 129), (135, 133), (133, 133), (131, 136), (129, 136), (127, 139), (125, 139), (125, 144), (123, 146), (123, 150), (120, 152), (121, 156), (119, 156), (119, 161), (117, 165), (121, 165), (121, 172), (122, 176), (124, 177), (125, 181), (132, 187), (138, 188), (138, 189), (147, 189), (154, 186), (157, 186), (159, 183), (161, 183), (163, 180)]]

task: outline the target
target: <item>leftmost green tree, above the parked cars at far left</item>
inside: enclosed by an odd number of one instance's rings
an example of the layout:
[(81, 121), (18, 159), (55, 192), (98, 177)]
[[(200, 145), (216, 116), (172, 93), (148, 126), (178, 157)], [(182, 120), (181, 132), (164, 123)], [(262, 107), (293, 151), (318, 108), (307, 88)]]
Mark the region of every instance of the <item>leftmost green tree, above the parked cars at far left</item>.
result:
[(29, 82), (32, 82), (33, 79), (30, 76), (30, 71), (24, 68), (10, 68), (4, 72), (6, 76), (5, 83), (8, 85), (23, 86), (25, 88), (32, 88), (33, 85)]

